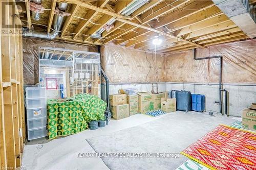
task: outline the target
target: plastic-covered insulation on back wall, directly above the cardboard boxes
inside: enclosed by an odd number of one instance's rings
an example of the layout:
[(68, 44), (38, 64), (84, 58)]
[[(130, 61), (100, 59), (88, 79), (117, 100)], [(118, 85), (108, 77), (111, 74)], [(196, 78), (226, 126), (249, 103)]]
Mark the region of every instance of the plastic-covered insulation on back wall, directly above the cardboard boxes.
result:
[(155, 53), (104, 45), (101, 64), (111, 83), (165, 81), (165, 59)]

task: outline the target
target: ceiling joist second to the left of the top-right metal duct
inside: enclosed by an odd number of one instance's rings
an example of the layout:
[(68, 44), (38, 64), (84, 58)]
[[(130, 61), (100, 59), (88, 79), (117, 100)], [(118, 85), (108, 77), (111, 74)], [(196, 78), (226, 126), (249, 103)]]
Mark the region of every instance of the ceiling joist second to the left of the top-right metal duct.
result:
[[(161, 15), (164, 15), (165, 13), (168, 13), (170, 11), (175, 10), (176, 8), (179, 8), (180, 6), (184, 5), (185, 3), (189, 2), (182, 0), (182, 1), (164, 1), (152, 10), (149, 10), (141, 15), (143, 24), (156, 19), (160, 17)], [(153, 12), (152, 12), (153, 11)]]

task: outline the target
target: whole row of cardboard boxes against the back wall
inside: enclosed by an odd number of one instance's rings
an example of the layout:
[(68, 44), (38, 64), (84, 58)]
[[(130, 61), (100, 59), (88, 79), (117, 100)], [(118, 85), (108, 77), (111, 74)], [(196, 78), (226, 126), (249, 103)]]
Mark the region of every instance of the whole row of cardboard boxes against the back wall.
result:
[(168, 92), (127, 94), (120, 89), (119, 93), (110, 95), (110, 110), (114, 119), (160, 109), (167, 113), (176, 111), (176, 99), (168, 99)]

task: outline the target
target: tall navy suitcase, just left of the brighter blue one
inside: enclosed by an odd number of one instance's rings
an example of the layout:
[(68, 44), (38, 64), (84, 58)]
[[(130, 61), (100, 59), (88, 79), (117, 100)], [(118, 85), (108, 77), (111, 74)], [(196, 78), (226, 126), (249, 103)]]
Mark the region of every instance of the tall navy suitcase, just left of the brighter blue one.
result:
[(176, 92), (176, 102), (177, 102), (177, 110), (182, 111), (190, 111), (192, 105), (191, 93), (190, 91), (177, 91)]

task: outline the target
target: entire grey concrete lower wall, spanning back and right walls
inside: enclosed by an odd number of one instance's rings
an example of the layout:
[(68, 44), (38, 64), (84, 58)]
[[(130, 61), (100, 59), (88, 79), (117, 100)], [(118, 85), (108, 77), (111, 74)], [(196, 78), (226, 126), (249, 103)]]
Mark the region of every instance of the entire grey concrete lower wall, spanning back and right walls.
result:
[[(104, 94), (105, 85), (101, 85), (102, 94)], [(151, 91), (152, 84), (110, 84), (110, 94), (118, 93), (119, 89), (124, 88), (137, 88), (138, 92)], [(224, 84), (223, 88), (229, 93), (228, 105), (229, 115), (241, 116), (242, 110), (248, 108), (251, 103), (256, 103), (256, 84)], [(196, 83), (175, 83), (175, 82), (162, 82), (158, 85), (159, 92), (169, 90), (186, 90), (194, 94), (204, 94), (206, 101), (206, 111), (219, 112), (219, 85), (218, 84), (196, 84)], [(102, 95), (104, 100), (104, 95)], [(223, 95), (224, 103), (224, 95)], [(224, 106), (223, 106), (224, 110)], [(224, 113), (224, 111), (223, 111)]]

